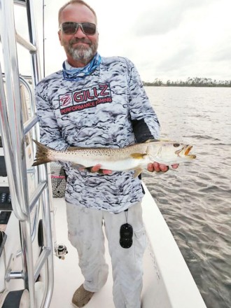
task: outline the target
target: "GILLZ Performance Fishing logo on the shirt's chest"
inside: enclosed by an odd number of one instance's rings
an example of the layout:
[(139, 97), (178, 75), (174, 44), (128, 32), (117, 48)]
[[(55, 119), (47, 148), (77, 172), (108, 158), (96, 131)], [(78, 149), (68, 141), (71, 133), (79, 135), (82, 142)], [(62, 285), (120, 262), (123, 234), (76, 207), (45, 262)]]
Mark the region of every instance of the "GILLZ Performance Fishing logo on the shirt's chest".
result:
[(99, 84), (92, 88), (73, 91), (59, 95), (59, 109), (61, 114), (80, 111), (96, 107), (99, 104), (111, 103), (111, 89), (109, 83)]

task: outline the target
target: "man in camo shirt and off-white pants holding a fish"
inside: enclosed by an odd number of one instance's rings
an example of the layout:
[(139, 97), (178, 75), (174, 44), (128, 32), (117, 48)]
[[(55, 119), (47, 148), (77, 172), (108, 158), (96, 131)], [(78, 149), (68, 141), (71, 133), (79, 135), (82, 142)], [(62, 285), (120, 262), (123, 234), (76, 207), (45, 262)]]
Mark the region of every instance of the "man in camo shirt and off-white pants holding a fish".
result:
[[(100, 57), (97, 53), (94, 10), (81, 0), (66, 3), (59, 10), (58, 35), (67, 58), (63, 69), (36, 86), (41, 142), (63, 150), (69, 146), (122, 148), (158, 139), (158, 118), (132, 62), (123, 57)], [(100, 169), (100, 165), (90, 169), (73, 169), (64, 162), (62, 165), (67, 174), (69, 240), (77, 248), (85, 279), (73, 295), (73, 305), (83, 307), (106, 283), (104, 222), (115, 306), (140, 308), (146, 247), (141, 180), (134, 178), (134, 171), (111, 172)], [(148, 165), (151, 172), (167, 169), (156, 162)], [(123, 228), (130, 229), (126, 233)]]

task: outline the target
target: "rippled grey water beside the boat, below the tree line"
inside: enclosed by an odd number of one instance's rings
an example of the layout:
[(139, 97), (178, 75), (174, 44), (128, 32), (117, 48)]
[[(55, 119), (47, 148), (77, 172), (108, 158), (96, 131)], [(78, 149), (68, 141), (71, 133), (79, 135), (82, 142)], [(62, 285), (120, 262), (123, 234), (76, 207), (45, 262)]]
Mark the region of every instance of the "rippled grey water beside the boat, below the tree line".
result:
[[(144, 182), (208, 308), (231, 307), (231, 88), (146, 87), (161, 138), (193, 144), (196, 160)], [(197, 307), (195, 307), (197, 308)]]

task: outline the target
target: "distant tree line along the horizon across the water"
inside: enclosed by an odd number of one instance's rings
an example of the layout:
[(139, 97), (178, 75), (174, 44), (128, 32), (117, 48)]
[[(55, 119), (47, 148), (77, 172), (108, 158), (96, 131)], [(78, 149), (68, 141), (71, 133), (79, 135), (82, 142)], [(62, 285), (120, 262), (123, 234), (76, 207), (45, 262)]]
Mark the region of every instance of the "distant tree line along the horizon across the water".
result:
[(216, 80), (211, 78), (190, 78), (183, 80), (167, 80), (163, 83), (161, 79), (155, 78), (153, 82), (143, 82), (146, 86), (167, 86), (167, 87), (231, 87), (231, 80)]

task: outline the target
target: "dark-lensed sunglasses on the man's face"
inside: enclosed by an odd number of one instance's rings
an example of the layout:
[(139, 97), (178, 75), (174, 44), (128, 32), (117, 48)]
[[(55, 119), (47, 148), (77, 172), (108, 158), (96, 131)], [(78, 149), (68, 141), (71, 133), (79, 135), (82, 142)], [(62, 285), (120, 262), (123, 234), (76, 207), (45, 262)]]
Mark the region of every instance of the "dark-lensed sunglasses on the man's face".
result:
[(62, 30), (64, 34), (76, 34), (78, 27), (86, 35), (94, 35), (97, 31), (96, 25), (91, 22), (63, 22), (59, 26), (59, 30)]

